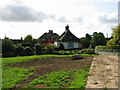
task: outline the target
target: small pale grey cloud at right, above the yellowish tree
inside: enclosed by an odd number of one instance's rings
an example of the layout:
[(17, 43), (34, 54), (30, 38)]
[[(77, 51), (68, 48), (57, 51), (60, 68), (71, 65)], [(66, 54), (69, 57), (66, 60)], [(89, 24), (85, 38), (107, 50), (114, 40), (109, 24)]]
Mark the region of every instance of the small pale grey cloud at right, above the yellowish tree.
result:
[(104, 16), (100, 16), (98, 19), (103, 23), (117, 23), (118, 22), (117, 16), (115, 18), (107, 18), (107, 15), (104, 15)]

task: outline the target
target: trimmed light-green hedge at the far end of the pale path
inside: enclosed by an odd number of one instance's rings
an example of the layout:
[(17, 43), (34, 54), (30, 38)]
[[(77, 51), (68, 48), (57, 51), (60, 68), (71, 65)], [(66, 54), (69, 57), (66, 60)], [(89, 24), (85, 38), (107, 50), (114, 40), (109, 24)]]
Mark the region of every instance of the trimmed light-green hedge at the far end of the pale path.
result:
[(96, 46), (95, 52), (120, 52), (120, 45), (112, 45), (112, 46)]

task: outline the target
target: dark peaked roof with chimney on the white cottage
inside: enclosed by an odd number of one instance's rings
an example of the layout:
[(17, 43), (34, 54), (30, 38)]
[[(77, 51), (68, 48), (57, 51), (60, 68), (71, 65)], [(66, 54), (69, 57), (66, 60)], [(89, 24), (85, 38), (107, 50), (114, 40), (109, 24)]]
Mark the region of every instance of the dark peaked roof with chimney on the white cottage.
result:
[(79, 38), (77, 38), (74, 34), (72, 34), (69, 30), (69, 26), (67, 25), (65, 32), (57, 39), (57, 41), (66, 41), (66, 42), (79, 42)]

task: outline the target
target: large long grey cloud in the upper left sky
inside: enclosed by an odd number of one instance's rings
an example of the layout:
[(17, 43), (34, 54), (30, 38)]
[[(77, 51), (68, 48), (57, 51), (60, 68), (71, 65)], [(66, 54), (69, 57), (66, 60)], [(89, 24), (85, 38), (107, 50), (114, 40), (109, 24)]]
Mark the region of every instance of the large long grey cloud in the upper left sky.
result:
[(43, 12), (36, 12), (34, 9), (25, 6), (6, 6), (1, 9), (3, 21), (16, 21), (16, 22), (42, 22), (47, 19), (47, 15)]

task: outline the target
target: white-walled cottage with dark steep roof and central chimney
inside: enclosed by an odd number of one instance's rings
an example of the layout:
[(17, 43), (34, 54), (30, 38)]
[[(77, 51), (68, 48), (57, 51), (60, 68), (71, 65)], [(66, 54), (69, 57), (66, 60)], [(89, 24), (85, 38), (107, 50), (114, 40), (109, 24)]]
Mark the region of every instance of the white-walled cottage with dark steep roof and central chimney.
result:
[(58, 39), (54, 42), (56, 46), (60, 46), (62, 43), (64, 45), (64, 49), (77, 49), (79, 48), (79, 38), (77, 38), (74, 34), (72, 34), (69, 30), (69, 26), (65, 26), (65, 32), (58, 37)]

